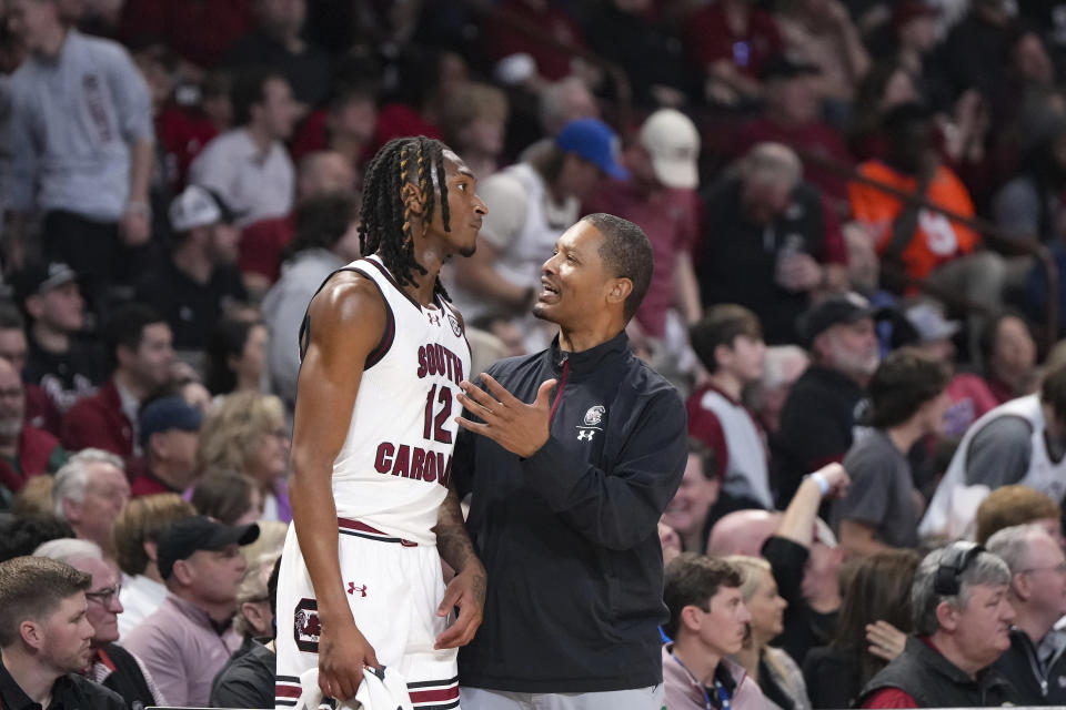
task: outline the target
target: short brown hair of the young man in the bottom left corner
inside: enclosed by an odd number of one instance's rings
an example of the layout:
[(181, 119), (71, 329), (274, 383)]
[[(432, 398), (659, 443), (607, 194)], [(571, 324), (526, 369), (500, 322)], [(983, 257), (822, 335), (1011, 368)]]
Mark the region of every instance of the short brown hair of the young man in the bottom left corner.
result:
[(19, 640), (27, 619), (51, 616), (63, 599), (86, 591), (92, 577), (47, 557), (16, 557), (0, 562), (0, 648)]

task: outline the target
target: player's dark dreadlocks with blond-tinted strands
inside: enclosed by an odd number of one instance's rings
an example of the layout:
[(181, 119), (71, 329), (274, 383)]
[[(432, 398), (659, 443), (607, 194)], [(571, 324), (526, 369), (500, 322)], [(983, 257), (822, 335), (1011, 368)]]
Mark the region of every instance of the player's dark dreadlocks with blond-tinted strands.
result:
[[(378, 151), (366, 169), (359, 246), (363, 254), (379, 254), (401, 286), (414, 283), (413, 271), (426, 273), (425, 267), (414, 257), (412, 215), (410, 207), (404, 204), (402, 193), (406, 183), (418, 186), (425, 221), (432, 219), (436, 199), (440, 196), (444, 231), (451, 232), (447, 185), (444, 182), (445, 149), (440, 141), (424, 135), (393, 139)], [(431, 171), (434, 170), (436, 174), (432, 175)], [(434, 291), (447, 298), (447, 292), (440, 278), (436, 280)]]

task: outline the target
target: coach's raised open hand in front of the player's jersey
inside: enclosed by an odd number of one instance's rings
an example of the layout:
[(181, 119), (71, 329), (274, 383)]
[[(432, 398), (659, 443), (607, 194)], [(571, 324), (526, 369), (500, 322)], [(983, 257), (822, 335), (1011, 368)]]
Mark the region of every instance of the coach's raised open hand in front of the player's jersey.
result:
[(463, 417), (455, 417), (455, 423), (474, 434), (487, 436), (522, 458), (536, 454), (547, 442), (551, 393), (557, 381), (549, 379), (541, 383), (540, 389), (536, 390), (536, 399), (532, 404), (525, 404), (504, 389), (491, 375), (482, 374), (481, 378), (489, 392), (464, 379), (460, 383), (463, 392), (459, 395), (459, 402), (477, 415), (484, 424)]

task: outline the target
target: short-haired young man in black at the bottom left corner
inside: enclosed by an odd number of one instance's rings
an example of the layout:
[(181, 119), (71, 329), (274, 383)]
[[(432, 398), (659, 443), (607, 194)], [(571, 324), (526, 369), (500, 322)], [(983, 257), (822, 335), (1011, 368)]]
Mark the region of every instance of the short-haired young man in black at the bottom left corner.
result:
[(42, 557), (0, 564), (0, 707), (124, 710), (80, 671), (92, 658), (92, 577)]

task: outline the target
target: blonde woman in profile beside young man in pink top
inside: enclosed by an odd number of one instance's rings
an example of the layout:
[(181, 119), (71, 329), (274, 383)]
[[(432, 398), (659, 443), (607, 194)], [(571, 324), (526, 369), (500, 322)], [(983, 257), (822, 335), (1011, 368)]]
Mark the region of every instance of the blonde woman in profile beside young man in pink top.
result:
[(770, 562), (761, 557), (731, 555), (725, 561), (741, 572), (741, 596), (752, 615), (744, 647), (734, 657), (758, 683), (771, 710), (811, 710), (803, 673), (794, 660), (770, 641), (784, 630), (788, 602), (777, 594)]

